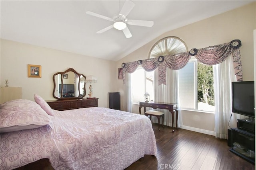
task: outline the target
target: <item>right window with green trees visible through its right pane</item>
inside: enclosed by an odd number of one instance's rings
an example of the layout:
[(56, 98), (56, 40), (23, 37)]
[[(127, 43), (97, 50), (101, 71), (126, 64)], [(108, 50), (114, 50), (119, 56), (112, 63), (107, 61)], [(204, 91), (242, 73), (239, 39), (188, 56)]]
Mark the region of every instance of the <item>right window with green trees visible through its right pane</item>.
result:
[[(208, 70), (211, 70), (211, 72), (205, 71), (205, 74), (198, 75), (198, 68), (202, 67), (199, 67), (199, 63), (195, 58), (192, 58), (186, 64), (186, 66), (184, 66), (184, 68), (179, 70), (180, 107), (182, 109), (212, 112), (215, 111), (213, 80), (206, 81), (205, 83), (202, 83), (202, 81), (198, 82), (198, 78), (200, 78), (200, 80), (209, 80), (209, 75), (207, 74), (211, 74), (210, 78), (213, 78), (212, 66), (204, 65), (204, 67), (206, 67)], [(199, 73), (202, 73), (202, 71), (200, 70)], [(208, 87), (210, 87), (210, 90), (206, 88), (201, 90), (202, 88), (198, 87), (198, 85), (208, 85)], [(202, 91), (207, 91), (207, 93), (204, 92), (205, 100), (201, 97), (203, 96)]]

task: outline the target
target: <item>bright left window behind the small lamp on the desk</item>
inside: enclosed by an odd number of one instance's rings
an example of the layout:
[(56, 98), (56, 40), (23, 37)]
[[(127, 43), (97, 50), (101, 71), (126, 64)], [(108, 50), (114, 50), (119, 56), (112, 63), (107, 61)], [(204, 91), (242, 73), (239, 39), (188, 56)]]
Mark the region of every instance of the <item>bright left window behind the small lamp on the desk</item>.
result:
[(137, 68), (131, 74), (132, 81), (132, 103), (145, 101), (144, 94), (150, 94), (150, 100), (154, 99), (153, 95), (153, 72), (146, 72), (142, 67)]

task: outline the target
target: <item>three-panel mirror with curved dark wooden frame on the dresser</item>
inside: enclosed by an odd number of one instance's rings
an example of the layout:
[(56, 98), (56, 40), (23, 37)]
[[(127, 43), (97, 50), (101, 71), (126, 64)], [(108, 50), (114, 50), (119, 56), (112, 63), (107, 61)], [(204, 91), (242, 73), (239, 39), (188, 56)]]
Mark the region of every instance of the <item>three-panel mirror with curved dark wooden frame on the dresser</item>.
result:
[(86, 95), (86, 76), (69, 68), (64, 72), (53, 75), (54, 89), (53, 97), (56, 99), (79, 99)]

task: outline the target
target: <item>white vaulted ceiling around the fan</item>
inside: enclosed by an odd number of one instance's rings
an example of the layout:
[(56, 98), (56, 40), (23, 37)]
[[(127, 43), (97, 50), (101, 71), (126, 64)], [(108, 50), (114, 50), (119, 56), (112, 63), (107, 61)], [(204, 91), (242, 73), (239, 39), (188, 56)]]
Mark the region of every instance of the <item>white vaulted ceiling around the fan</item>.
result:
[(152, 27), (128, 25), (132, 37), (113, 24), (86, 14), (95, 12), (109, 18), (118, 15), (124, 0), (1, 0), (1, 38), (90, 57), (118, 61), (159, 35), (244, 6), (245, 0), (134, 0), (128, 19), (154, 21)]

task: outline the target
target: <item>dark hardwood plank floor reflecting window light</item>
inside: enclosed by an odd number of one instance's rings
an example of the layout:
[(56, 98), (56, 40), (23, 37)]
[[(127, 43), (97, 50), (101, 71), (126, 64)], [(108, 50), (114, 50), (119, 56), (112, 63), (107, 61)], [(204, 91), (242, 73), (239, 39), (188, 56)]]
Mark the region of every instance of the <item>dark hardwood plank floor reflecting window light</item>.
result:
[(145, 155), (126, 170), (255, 170), (229, 151), (227, 140), (211, 135), (153, 124), (157, 156)]

